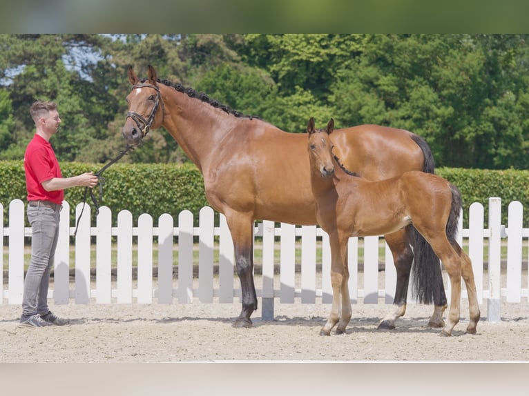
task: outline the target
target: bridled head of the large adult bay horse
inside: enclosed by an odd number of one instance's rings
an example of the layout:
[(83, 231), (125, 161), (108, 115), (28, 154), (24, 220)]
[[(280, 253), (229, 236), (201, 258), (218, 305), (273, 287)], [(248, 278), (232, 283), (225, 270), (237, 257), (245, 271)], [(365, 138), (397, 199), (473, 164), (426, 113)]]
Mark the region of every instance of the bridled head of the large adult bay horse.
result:
[(156, 129), (162, 124), (164, 103), (153, 66), (148, 66), (148, 79), (143, 82), (132, 67), (128, 68), (128, 81), (133, 87), (126, 97), (128, 112), (122, 133), (129, 145), (136, 146), (151, 127)]

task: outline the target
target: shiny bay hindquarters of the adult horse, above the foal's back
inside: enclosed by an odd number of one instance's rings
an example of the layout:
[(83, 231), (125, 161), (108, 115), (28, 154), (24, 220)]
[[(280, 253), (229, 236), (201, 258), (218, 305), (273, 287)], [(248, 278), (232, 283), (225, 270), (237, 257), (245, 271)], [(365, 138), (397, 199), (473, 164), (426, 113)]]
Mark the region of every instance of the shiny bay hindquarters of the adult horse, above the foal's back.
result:
[(365, 179), (382, 180), (423, 170), (421, 147), (407, 130), (373, 124), (334, 130), (331, 140), (340, 163)]

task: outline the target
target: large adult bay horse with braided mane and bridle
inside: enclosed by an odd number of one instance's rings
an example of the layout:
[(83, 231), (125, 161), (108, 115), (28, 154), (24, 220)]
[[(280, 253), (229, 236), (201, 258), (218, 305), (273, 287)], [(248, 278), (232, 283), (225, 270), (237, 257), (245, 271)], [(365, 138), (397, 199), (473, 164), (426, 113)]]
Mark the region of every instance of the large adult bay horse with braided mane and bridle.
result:
[[(124, 139), (136, 146), (151, 128), (164, 126), (198, 167), (206, 198), (226, 217), (233, 239), (242, 291), (242, 310), (233, 326), (250, 327), (250, 316), (258, 307), (253, 284), (254, 221), (316, 224), (307, 135), (244, 116), (180, 83), (160, 81), (152, 66), (141, 80), (128, 68), (128, 81), (132, 89), (126, 97)], [(344, 164), (367, 179), (386, 179), (412, 169), (434, 172), (427, 143), (407, 130), (354, 126), (336, 130), (332, 139)], [(397, 281), (394, 308), (379, 327), (394, 328), (405, 313), (414, 257), (423, 261), (434, 255), (428, 254), (429, 245), (411, 226), (385, 235), (385, 240), (392, 250)], [(446, 296), (441, 269), (433, 277), (426, 275), (426, 279), (421, 273), (413, 277), (415, 286), (421, 302), (434, 303), (429, 326), (442, 327)]]

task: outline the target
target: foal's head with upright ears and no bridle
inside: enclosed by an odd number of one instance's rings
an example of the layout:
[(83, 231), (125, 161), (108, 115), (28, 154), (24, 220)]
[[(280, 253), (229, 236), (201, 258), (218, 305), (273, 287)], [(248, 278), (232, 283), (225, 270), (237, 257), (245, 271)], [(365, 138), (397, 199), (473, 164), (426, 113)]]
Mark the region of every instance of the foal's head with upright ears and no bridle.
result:
[(334, 164), (332, 161), (332, 142), (329, 137), (334, 130), (334, 119), (327, 123), (327, 130), (316, 130), (314, 128), (314, 118), (307, 124), (309, 133), (309, 157), (311, 168), (318, 171), (323, 177), (332, 177), (334, 175)]

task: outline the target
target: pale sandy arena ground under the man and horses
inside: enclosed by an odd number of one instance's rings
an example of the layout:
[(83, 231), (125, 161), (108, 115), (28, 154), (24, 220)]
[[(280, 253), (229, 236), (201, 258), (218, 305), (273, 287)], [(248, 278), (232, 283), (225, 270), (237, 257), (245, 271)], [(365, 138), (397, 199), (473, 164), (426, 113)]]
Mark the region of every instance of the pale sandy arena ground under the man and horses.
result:
[[(387, 304), (353, 305), (345, 335), (318, 335), (330, 304), (280, 304), (273, 321), (233, 328), (233, 304), (68, 304), (50, 308), (68, 326), (19, 326), (21, 307), (0, 306), (0, 363), (148, 362), (524, 362), (529, 361), (529, 304), (501, 305), (501, 322), (481, 308), (477, 335), (465, 335), (468, 306), (452, 337), (424, 328), (431, 306), (408, 304), (394, 330), (377, 330)], [(447, 311), (445, 311), (445, 317)]]

